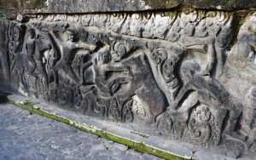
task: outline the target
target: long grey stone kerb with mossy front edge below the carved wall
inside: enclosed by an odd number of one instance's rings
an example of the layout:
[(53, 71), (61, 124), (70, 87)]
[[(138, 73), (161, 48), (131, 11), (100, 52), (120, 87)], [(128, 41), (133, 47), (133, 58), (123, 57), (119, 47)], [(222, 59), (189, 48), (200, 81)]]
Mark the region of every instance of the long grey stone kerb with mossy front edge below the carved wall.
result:
[(31, 111), (40, 116), (49, 117), (61, 123), (66, 123), (84, 132), (96, 134), (102, 138), (113, 140), (119, 144), (130, 146), (137, 151), (147, 152), (157, 157), (172, 160), (203, 159), (204, 156), (200, 157), (196, 154), (200, 151), (200, 154), (202, 155), (207, 154), (207, 158), (230, 159), (230, 157), (224, 157), (211, 151), (183, 146), (177, 144), (173, 140), (165, 140), (156, 136), (136, 133), (130, 129), (114, 126), (113, 124), (109, 124), (106, 121), (95, 119), (93, 117), (86, 117), (75, 113), (70, 114), (71, 111), (65, 111), (55, 106), (49, 106), (40, 100), (32, 100), (25, 96), (15, 94), (5, 94), (5, 96), (3, 96), (3, 94), (0, 95), (2, 95), (0, 99), (5, 100), (5, 102), (19, 106), (27, 111)]

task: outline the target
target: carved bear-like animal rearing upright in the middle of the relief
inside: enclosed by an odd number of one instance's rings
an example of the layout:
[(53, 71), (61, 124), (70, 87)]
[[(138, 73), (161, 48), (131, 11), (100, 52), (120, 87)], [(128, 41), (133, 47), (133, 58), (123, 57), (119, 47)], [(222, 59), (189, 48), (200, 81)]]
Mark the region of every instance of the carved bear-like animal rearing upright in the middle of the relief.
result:
[(166, 111), (166, 95), (155, 82), (154, 75), (144, 53), (137, 53), (122, 61), (122, 65), (131, 75), (131, 85), (123, 93), (118, 94), (119, 100), (130, 100), (132, 96), (143, 104), (146, 116), (144, 123), (155, 123), (155, 118)]

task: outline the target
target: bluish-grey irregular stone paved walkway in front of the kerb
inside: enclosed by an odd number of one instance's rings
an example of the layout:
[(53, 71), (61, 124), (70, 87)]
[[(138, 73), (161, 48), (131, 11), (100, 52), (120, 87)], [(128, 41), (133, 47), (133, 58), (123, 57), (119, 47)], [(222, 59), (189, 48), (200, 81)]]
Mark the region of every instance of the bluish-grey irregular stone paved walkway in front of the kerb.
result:
[(154, 159), (67, 124), (0, 104), (0, 159)]

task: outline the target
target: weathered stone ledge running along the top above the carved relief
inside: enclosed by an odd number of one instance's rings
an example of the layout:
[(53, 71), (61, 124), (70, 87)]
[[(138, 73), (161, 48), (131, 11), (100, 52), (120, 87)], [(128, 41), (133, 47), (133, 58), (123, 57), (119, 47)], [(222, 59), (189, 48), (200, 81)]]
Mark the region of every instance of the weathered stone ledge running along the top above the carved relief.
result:
[(250, 0), (0, 0), (0, 14), (15, 19), (15, 14), (35, 13), (106, 13), (160, 9), (255, 9)]

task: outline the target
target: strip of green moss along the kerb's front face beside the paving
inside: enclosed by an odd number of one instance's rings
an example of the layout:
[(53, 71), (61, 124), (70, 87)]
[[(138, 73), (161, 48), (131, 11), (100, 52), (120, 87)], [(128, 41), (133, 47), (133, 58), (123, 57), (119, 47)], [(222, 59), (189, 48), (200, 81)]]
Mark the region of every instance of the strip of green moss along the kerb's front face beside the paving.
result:
[[(79, 123), (75, 123), (73, 121), (70, 121), (64, 117), (59, 117), (55, 114), (51, 114), (46, 111), (42, 111), (40, 108), (34, 108), (33, 106), (35, 105), (34, 103), (18, 103), (15, 100), (10, 100), (8, 99), (9, 103), (15, 105), (15, 106), (20, 106), (21, 108), (31, 111), (33, 113), (36, 113), (38, 115), (44, 116), (44, 117), (49, 117), (51, 119), (55, 119), (56, 121), (59, 121), (61, 123), (67, 123), (71, 126), (73, 126), (76, 129), (80, 129), (84, 132), (90, 133), (90, 134), (96, 134), (102, 138), (108, 139), (108, 140), (113, 140), (114, 142), (117, 142), (119, 144), (123, 144), (125, 146), (130, 146), (131, 148), (137, 150), (137, 151), (143, 151), (143, 152), (148, 152), (149, 154), (152, 154), (157, 157), (162, 157), (165, 159), (172, 159), (172, 160), (181, 160), (184, 159), (183, 157), (178, 157), (175, 155), (172, 155), (169, 152), (166, 151), (160, 151), (159, 149), (154, 148), (153, 146), (146, 146), (143, 143), (133, 141), (133, 140), (128, 140), (124, 137), (121, 137), (116, 134), (109, 134), (106, 131), (103, 131), (101, 129), (94, 129), (86, 125), (81, 125)], [(137, 134), (137, 133), (136, 133)], [(142, 134), (143, 135), (143, 134)], [(146, 136), (146, 135), (143, 135)]]

